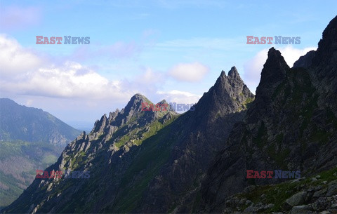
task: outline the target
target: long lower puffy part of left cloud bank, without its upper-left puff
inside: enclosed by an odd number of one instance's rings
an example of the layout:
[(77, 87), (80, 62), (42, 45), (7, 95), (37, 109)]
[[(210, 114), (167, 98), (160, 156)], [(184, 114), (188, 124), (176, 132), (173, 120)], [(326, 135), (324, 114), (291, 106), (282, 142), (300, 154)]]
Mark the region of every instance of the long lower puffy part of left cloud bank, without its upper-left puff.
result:
[(67, 62), (62, 67), (43, 67), (22, 75), (15, 81), (3, 81), (1, 91), (59, 98), (123, 99), (132, 95), (121, 91), (119, 81), (109, 81), (78, 63)]

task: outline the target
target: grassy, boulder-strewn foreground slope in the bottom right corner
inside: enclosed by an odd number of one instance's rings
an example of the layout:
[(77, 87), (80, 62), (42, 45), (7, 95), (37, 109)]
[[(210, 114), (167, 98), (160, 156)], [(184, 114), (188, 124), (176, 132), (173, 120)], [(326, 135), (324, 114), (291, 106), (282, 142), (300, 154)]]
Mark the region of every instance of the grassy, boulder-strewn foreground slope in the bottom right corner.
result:
[(246, 187), (226, 199), (223, 213), (336, 213), (336, 169), (324, 172), (323, 178), (317, 175), (280, 185)]

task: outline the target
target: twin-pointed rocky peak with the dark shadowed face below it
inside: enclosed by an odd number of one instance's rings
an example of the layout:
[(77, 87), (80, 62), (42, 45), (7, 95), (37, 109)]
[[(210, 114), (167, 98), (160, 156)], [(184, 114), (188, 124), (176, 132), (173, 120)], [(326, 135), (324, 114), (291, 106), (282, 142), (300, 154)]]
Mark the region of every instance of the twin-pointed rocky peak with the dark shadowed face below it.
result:
[(195, 105), (172, 124), (179, 127), (169, 161), (150, 182), (143, 201), (133, 212), (178, 213), (195, 211), (201, 180), (210, 161), (223, 147), (232, 126), (244, 116), (254, 96), (232, 67)]

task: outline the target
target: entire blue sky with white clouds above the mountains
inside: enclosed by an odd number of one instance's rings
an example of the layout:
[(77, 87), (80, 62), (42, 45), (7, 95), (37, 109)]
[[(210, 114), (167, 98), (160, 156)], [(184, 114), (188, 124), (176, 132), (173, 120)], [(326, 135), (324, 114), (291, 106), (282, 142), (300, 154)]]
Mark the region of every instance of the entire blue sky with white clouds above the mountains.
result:
[[(268, 49), (292, 67), (317, 49), (336, 8), (336, 0), (0, 0), (0, 98), (91, 130), (136, 93), (196, 103), (232, 66), (255, 93)], [(37, 36), (63, 40), (37, 44)], [(90, 44), (64, 44), (65, 36)], [(300, 44), (247, 44), (246, 36)]]

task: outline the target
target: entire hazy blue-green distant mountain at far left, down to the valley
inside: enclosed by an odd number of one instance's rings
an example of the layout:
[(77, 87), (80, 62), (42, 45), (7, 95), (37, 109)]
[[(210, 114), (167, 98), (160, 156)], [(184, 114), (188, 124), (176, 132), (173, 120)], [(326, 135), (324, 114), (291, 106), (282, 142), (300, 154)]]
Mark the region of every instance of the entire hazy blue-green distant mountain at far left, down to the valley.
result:
[(79, 131), (42, 109), (0, 99), (0, 207), (7, 206), (54, 163)]

